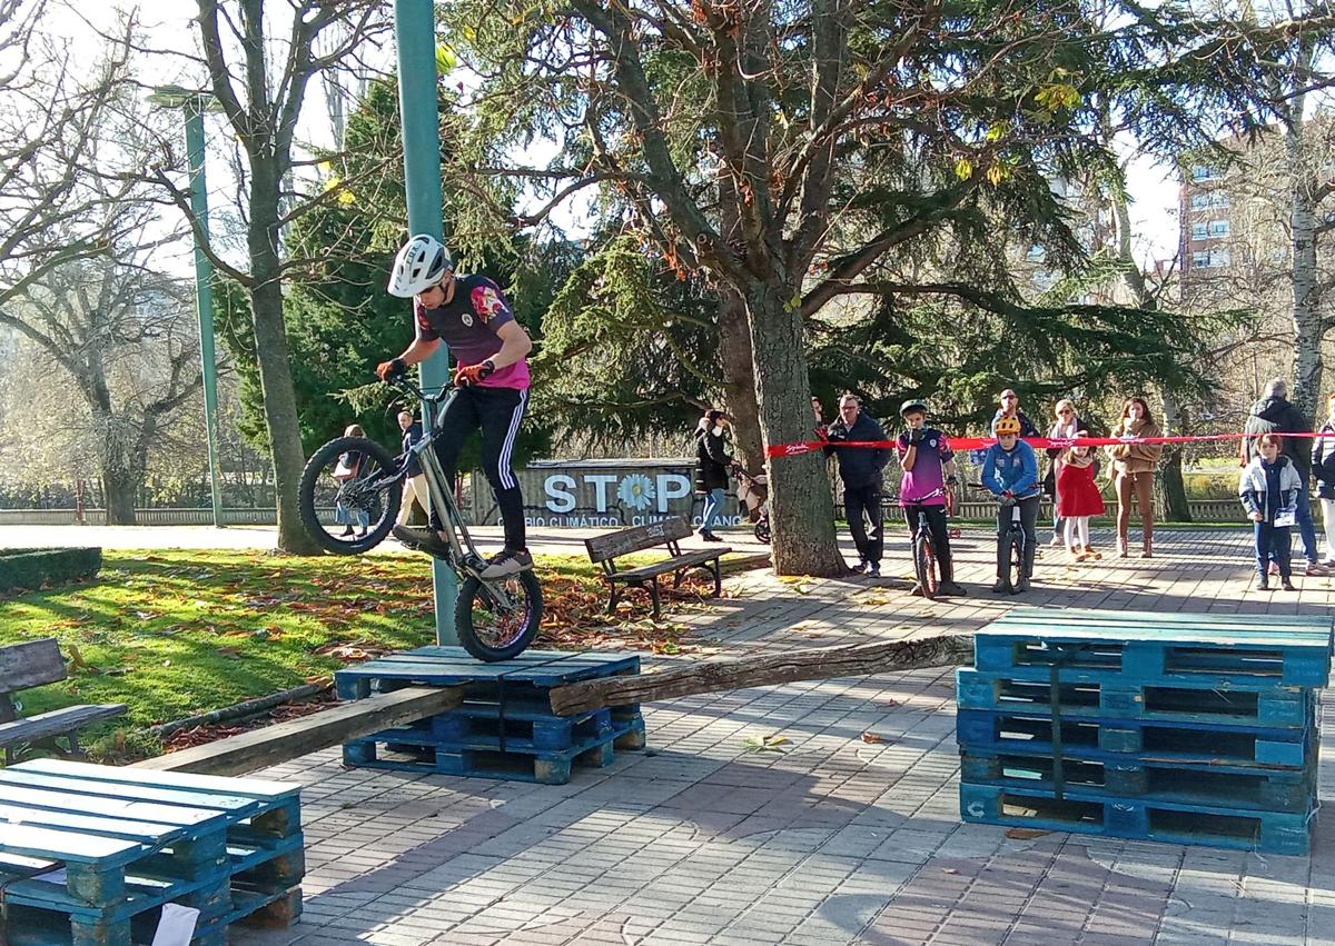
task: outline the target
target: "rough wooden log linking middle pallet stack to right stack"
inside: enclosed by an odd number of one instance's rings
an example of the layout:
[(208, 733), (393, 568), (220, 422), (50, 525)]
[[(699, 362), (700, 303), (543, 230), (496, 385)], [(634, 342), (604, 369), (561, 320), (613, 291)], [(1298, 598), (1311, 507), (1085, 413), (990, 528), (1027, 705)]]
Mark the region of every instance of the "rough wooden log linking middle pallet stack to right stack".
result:
[(953, 634), (913, 640), (814, 647), (786, 654), (762, 654), (701, 660), (638, 676), (605, 676), (582, 680), (551, 691), (551, 711), (558, 717), (590, 713), (621, 703), (650, 703), (655, 699), (689, 696), (718, 690), (861, 676), (890, 670), (948, 667), (973, 659), (973, 635)]

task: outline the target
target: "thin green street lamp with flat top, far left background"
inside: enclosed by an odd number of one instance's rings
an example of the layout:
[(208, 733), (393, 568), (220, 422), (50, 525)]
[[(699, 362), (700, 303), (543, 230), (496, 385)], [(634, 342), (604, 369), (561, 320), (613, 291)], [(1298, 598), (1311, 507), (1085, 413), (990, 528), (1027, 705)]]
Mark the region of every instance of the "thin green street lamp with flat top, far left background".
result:
[(204, 383), (204, 428), (208, 440), (208, 484), (214, 500), (214, 526), (223, 526), (223, 488), (218, 470), (218, 362), (214, 355), (214, 266), (204, 246), (208, 242), (208, 191), (204, 185), (204, 112), (219, 105), (207, 92), (180, 85), (158, 85), (148, 101), (163, 108), (179, 108), (186, 116), (186, 160), (190, 164), (190, 208), (195, 231), (195, 308), (199, 314), (199, 358)]

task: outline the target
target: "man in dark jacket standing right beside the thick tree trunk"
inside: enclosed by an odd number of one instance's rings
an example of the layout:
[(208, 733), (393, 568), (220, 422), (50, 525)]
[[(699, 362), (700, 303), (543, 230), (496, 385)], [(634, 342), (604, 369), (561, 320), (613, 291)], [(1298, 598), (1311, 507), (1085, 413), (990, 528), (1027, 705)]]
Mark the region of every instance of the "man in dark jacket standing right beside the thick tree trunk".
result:
[[(840, 447), (840, 442), (885, 440), (885, 431), (868, 415), (862, 414), (861, 402), (852, 394), (845, 394), (838, 402), (838, 420), (829, 426), (832, 446), (825, 448), (838, 456), (838, 475), (844, 480), (844, 514), (848, 528), (857, 546), (857, 571), (878, 578), (881, 574), (881, 554), (885, 551), (884, 523), (881, 510), (882, 470), (890, 459), (885, 447)], [(868, 531), (864, 516), (872, 520)]]

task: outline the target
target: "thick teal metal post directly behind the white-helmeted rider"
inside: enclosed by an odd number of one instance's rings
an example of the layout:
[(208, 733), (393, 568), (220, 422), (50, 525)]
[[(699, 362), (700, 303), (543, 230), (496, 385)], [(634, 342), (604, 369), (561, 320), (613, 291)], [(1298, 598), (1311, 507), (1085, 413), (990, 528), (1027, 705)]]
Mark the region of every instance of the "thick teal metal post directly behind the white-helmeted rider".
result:
[[(431, 0), (394, 0), (394, 39), (399, 65), (399, 117), (403, 124), (403, 176), (407, 188), (409, 232), (443, 238), (441, 223), (441, 117), (435, 88), (435, 13)], [(438, 388), (450, 378), (445, 346), (422, 363), (422, 387)], [(431, 418), (422, 418), (430, 423)], [(454, 603), (459, 582), (449, 567), (431, 559), (435, 587), (435, 638), (458, 644)]]

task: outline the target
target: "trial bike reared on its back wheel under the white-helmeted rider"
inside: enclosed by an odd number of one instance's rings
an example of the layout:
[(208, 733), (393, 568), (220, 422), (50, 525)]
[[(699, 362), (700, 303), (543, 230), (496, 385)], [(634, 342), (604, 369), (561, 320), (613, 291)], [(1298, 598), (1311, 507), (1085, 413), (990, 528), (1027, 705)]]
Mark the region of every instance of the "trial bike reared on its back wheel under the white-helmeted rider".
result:
[[(433, 443), (441, 435), (439, 422), (458, 388), (446, 384), (427, 395), (403, 375), (384, 383), (422, 407), (422, 418), (435, 418), (422, 439), (405, 454), (390, 451), (370, 438), (340, 436), (311, 455), (302, 472), (299, 510), (302, 523), (322, 548), (338, 555), (356, 555), (380, 544), (394, 528), (403, 502), (409, 460), (417, 459), (426, 478), (431, 506), (439, 511), (442, 536), (447, 546), (438, 558), (459, 582), (454, 626), (459, 643), (479, 660), (507, 660), (527, 647), (542, 622), (542, 584), (531, 570), (503, 578), (483, 578), (487, 560), (469, 535), (454, 490)], [(364, 535), (344, 536), (331, 531), (332, 510), (364, 514)], [(346, 515), (342, 518), (347, 518)]]

